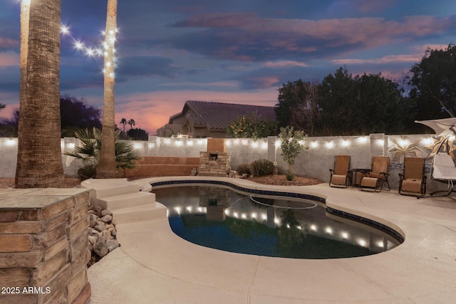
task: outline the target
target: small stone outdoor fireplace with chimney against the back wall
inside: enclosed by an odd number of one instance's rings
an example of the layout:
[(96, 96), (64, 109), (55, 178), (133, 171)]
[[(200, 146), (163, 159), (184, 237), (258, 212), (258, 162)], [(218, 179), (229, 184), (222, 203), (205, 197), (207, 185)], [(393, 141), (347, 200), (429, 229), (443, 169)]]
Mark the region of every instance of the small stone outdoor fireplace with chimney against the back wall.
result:
[(206, 152), (199, 152), (199, 175), (226, 177), (231, 170), (231, 153), (224, 138), (208, 138)]

